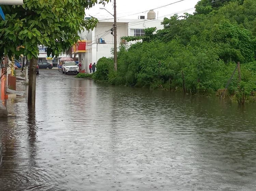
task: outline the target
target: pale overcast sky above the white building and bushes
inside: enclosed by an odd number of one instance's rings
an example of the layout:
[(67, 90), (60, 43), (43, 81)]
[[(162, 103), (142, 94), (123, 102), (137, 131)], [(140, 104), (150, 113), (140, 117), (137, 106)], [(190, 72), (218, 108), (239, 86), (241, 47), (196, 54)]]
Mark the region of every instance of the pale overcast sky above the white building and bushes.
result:
[[(181, 1), (181, 2), (177, 2)], [(164, 17), (170, 17), (177, 13), (178, 15), (183, 15), (183, 13), (193, 13), (194, 7), (199, 0), (116, 0), (116, 14), (117, 18), (130, 18), (138, 19), (138, 16), (147, 16), (148, 10), (153, 9), (156, 12), (156, 18), (163, 19)], [(175, 3), (177, 2), (177, 3)], [(168, 5), (170, 3), (174, 3)], [(113, 0), (108, 3), (104, 8), (114, 13)], [(167, 5), (167, 6), (165, 6)], [(165, 6), (162, 8), (157, 8)], [(94, 16), (98, 19), (113, 18), (105, 10), (101, 10), (103, 7), (101, 4), (86, 10), (86, 16)]]

